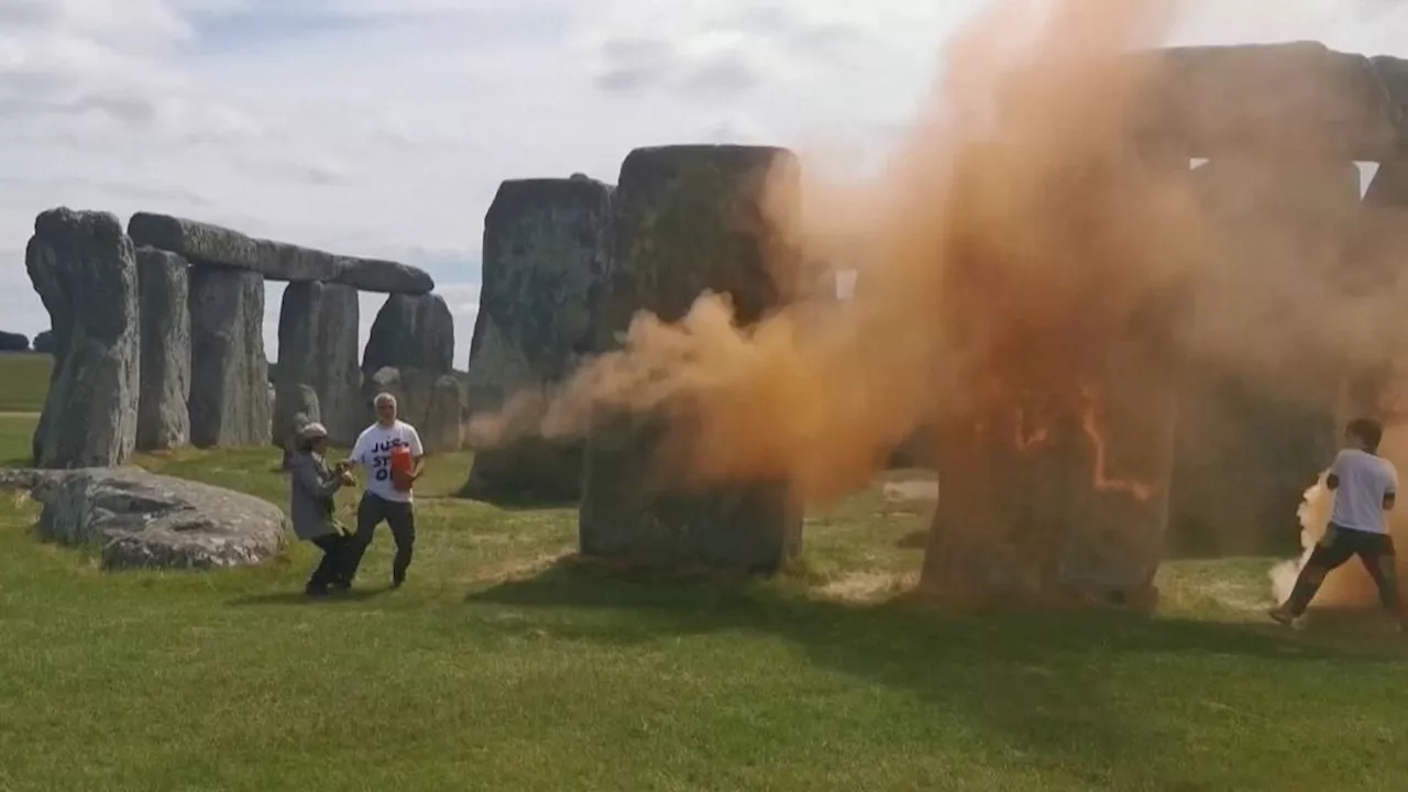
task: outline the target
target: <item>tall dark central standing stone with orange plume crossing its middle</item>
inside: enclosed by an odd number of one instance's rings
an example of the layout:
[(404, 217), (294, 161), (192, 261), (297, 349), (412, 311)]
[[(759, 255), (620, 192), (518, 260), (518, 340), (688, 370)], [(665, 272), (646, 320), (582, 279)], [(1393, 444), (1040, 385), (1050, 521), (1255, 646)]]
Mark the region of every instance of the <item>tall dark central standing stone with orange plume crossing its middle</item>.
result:
[[(781, 302), (770, 268), (780, 262), (770, 258), (784, 251), (763, 207), (774, 165), (796, 173), (794, 155), (777, 148), (665, 147), (627, 156), (614, 197), (617, 258), (598, 314), (598, 349), (611, 348), (636, 311), (673, 323), (705, 290), (728, 295), (742, 326)], [(660, 475), (662, 428), (659, 419), (642, 416), (600, 416), (591, 427), (579, 516), (583, 555), (776, 572), (800, 552), (801, 507), (786, 482), (680, 489)]]

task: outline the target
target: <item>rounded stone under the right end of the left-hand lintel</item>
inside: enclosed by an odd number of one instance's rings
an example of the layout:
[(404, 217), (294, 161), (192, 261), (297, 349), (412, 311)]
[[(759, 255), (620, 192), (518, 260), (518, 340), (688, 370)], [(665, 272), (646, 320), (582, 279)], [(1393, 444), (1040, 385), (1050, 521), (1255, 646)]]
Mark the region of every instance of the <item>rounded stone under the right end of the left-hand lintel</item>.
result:
[(448, 373), (455, 365), (455, 317), (439, 295), (391, 295), (376, 311), (362, 375), (386, 366)]

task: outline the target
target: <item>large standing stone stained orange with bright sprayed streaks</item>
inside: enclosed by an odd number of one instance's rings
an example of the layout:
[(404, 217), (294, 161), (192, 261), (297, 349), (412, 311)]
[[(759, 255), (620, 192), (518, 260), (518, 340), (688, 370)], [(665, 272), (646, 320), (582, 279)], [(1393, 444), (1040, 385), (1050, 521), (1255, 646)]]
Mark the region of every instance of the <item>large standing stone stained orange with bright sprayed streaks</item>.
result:
[[(955, 209), (935, 217), (945, 380), (963, 389), (935, 393), (942, 492), (921, 590), (957, 607), (1143, 609), (1163, 558), (1190, 295), (1184, 251), (1149, 244), (1184, 227), (1187, 207), (1140, 187), (1176, 183), (1186, 161), (1032, 148), (1050, 142), (966, 152)], [(1031, 194), (1062, 200), (1012, 200), (990, 178), (1018, 169)]]

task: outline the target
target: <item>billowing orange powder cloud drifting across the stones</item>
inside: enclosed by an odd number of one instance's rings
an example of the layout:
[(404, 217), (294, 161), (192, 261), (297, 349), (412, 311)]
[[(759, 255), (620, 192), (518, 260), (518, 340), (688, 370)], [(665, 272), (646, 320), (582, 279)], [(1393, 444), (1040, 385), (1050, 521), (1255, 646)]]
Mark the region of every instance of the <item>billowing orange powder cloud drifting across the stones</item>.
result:
[[(1019, 406), (1021, 386), (1064, 400), (1056, 412), (1076, 416), (1102, 465), (1111, 438), (1091, 417), (1087, 373), (1155, 295), (1228, 258), (1214, 255), (1225, 242), (1188, 154), (1159, 147), (1166, 120), (1150, 97), (1164, 61), (1138, 55), (1178, 11), (987, 3), (946, 42), (934, 100), (877, 176), (828, 182), (804, 168), (801, 190), (772, 193), (772, 221), (803, 261), (856, 272), (850, 299), (797, 297), (748, 327), (718, 295), (676, 323), (641, 314), (620, 349), (551, 393), (476, 417), (476, 443), (580, 435), (598, 410), (663, 416), (689, 450), (672, 468), (681, 483), (784, 478), (815, 503), (863, 488), (915, 427)], [(796, 187), (787, 176), (777, 182)], [(1253, 230), (1278, 233), (1239, 228)], [(1246, 262), (1224, 296), (1246, 309), (1276, 264)], [(1249, 358), (1324, 341), (1336, 327), (1324, 283), (1277, 283), (1277, 321), (1205, 323), (1198, 344), (1255, 368)], [(1024, 441), (1041, 431), (1032, 423)], [(1148, 497), (1152, 485), (1097, 469), (1093, 486)]]

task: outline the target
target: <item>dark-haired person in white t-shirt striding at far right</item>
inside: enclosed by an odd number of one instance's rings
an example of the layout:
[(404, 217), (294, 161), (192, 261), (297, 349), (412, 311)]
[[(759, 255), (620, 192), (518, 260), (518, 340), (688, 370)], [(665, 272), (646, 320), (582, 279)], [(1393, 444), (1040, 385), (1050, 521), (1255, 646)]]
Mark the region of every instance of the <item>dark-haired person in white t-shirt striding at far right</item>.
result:
[(1398, 629), (1408, 630), (1394, 561), (1394, 540), (1388, 534), (1384, 512), (1398, 496), (1398, 471), (1378, 457), (1383, 426), (1371, 419), (1354, 419), (1345, 428), (1346, 448), (1335, 457), (1325, 486), (1335, 492), (1329, 524), (1311, 557), (1305, 561), (1295, 588), (1280, 607), (1270, 612), (1283, 624), (1297, 624), (1309, 607), (1325, 575), (1357, 555), (1378, 586), (1383, 606), (1398, 619)]

